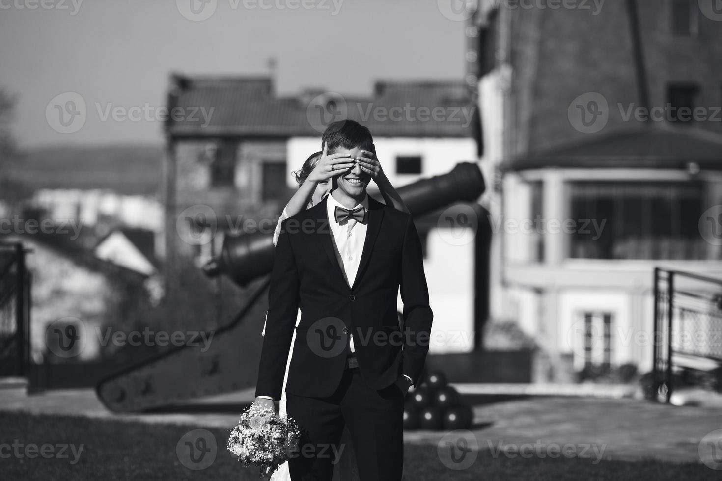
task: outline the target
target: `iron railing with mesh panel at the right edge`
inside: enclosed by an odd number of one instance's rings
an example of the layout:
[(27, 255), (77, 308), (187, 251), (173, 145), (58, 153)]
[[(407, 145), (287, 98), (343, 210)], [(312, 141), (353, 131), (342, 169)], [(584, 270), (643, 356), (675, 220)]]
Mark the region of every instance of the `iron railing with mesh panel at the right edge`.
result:
[(653, 387), (666, 402), (675, 379), (685, 373), (710, 373), (708, 379), (719, 379), (722, 280), (656, 268), (653, 346)]

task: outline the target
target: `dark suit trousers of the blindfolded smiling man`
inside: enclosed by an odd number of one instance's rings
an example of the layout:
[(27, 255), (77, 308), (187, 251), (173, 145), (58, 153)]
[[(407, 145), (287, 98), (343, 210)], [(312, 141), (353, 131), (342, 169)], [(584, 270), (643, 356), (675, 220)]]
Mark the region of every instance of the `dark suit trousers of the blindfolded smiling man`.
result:
[[(359, 369), (346, 369), (329, 397), (286, 393), (287, 411), (300, 426), (299, 449), (289, 459), (292, 481), (331, 481), (348, 428), (361, 481), (400, 481), (404, 467), (404, 394), (396, 384), (371, 389)], [(342, 480), (343, 481), (343, 480)]]

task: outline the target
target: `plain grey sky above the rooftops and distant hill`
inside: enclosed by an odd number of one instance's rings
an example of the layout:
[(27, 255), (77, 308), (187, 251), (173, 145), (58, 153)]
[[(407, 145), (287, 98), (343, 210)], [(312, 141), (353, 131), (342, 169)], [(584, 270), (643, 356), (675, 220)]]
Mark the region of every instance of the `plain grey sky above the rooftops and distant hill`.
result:
[[(269, 74), (275, 58), (279, 94), (461, 81), (465, 23), (453, 1), (0, 0), (0, 88), (17, 95), (12, 131), (24, 148), (160, 144), (174, 71)], [(59, 123), (82, 102), (83, 122)]]

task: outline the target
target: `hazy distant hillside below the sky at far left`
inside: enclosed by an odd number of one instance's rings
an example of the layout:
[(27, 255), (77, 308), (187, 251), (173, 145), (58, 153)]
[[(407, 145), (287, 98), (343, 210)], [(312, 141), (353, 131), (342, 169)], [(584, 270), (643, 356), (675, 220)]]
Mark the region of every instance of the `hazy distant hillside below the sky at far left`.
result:
[(161, 146), (57, 146), (21, 152), (4, 175), (30, 190), (112, 189), (152, 195), (160, 181)]

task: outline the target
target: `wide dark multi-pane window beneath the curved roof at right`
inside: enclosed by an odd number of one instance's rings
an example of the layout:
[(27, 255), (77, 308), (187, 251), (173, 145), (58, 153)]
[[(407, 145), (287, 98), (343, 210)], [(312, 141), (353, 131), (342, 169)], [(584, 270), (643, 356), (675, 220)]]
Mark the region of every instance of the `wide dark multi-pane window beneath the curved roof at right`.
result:
[(573, 182), (570, 213), (577, 259), (705, 259), (699, 182)]

